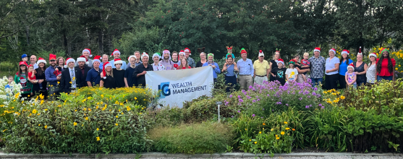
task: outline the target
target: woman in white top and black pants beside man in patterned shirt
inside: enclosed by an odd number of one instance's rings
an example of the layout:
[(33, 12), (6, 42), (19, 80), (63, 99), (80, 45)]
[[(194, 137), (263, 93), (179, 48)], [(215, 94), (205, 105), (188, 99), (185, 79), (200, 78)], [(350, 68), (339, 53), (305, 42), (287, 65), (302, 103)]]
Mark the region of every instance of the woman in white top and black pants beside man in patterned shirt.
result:
[(335, 49), (329, 50), (329, 58), (326, 59), (325, 64), (325, 87), (327, 90), (336, 89), (337, 81), (339, 80), (339, 65), (340, 59), (335, 57), (336, 54)]

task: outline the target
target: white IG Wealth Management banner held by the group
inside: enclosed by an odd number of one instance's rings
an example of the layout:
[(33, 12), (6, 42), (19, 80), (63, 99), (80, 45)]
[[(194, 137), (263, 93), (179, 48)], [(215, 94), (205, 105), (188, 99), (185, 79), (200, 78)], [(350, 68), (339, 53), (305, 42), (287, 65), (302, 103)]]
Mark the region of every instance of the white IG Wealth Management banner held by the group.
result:
[(146, 73), (147, 87), (161, 90), (160, 102), (171, 107), (182, 107), (184, 101), (191, 101), (199, 96), (211, 96), (213, 82), (211, 67)]

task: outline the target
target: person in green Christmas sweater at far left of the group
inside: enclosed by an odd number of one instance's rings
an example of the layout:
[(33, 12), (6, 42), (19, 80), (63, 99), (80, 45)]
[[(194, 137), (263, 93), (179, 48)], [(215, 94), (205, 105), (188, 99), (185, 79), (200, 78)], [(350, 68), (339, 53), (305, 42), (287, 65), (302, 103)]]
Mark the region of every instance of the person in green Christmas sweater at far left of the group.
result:
[(32, 83), (28, 80), (28, 70), (27, 63), (25, 61), (21, 61), (19, 64), (18, 72), (15, 75), (14, 82), (17, 84), (21, 84), (21, 97), (20, 98), (30, 98), (32, 93)]

